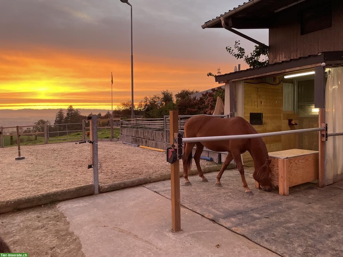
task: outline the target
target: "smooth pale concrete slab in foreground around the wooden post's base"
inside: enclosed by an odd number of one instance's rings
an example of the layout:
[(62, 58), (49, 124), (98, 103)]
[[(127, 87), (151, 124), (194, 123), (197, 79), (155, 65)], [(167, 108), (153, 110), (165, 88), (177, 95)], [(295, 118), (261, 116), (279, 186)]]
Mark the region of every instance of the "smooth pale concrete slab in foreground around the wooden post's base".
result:
[(137, 186), (58, 207), (86, 256), (277, 256), (186, 208), (181, 208), (183, 231), (173, 233), (170, 205), (167, 198)]

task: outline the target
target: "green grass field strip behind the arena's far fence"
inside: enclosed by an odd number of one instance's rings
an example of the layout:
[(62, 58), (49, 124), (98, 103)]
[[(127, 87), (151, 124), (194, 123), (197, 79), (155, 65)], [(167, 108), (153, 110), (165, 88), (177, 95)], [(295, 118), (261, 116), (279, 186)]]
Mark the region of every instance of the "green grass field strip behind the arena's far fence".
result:
[[(120, 129), (113, 129), (113, 137), (114, 138), (118, 138), (119, 134), (120, 134)], [(71, 133), (68, 133), (68, 136), (69, 136), (69, 138), (79, 137), (79, 139), (82, 139), (82, 132), (71, 132)], [(109, 129), (99, 129), (98, 130), (98, 138), (110, 138), (110, 137), (111, 137), (111, 131)], [(70, 140), (78, 140), (78, 138), (74, 138), (74, 139), (64, 139), (64, 138), (67, 138), (67, 135), (50, 137), (48, 140), (48, 143), (57, 143), (57, 142), (65, 142), (65, 141), (70, 141)], [(13, 144), (12, 145), (11, 145), (10, 136), (4, 136), (3, 139), (4, 139), (4, 146), (5, 147), (17, 145), (17, 136), (16, 135), (13, 135)], [(30, 136), (22, 135), (22, 136), (20, 136), (20, 145), (35, 145), (35, 144), (44, 144), (44, 136), (37, 136), (37, 140), (35, 140), (34, 135), (30, 135)]]

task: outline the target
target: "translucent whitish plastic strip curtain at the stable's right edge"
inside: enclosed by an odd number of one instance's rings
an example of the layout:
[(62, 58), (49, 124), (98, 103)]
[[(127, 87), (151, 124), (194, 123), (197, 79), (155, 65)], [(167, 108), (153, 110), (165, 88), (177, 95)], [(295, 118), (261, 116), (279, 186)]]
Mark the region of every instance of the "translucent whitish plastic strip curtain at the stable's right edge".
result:
[[(343, 67), (327, 69), (325, 120), (328, 133), (343, 132)], [(343, 179), (343, 136), (331, 136), (325, 144), (325, 181), (332, 184)]]

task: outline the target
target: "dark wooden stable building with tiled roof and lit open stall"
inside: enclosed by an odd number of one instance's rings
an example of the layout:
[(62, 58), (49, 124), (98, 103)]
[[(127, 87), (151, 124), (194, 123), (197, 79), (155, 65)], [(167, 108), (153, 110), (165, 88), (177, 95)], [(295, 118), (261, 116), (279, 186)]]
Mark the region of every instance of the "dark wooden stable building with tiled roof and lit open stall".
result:
[[(245, 118), (259, 133), (323, 123), (329, 134), (343, 132), (343, 1), (249, 0), (202, 28), (224, 28), (269, 48), (268, 65), (215, 76), (225, 83), (225, 114)], [(269, 29), (269, 46), (236, 30), (262, 28)], [(318, 132), (263, 140), (269, 152), (325, 147), (319, 184), (343, 179), (343, 136), (322, 144)]]

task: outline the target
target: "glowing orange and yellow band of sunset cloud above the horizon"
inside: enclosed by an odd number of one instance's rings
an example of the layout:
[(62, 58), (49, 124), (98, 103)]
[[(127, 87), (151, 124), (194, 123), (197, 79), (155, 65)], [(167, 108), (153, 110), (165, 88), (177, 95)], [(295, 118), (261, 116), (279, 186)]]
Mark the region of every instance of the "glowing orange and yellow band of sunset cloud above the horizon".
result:
[[(115, 56), (115, 57), (114, 57)], [(192, 60), (134, 56), (134, 102), (169, 89), (205, 90), (218, 86), (206, 77), (208, 67)], [(0, 109), (109, 109), (113, 72), (114, 106), (131, 99), (130, 56), (80, 54), (56, 49), (2, 50)]]

